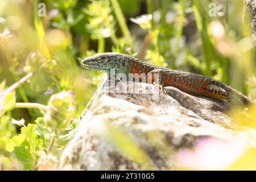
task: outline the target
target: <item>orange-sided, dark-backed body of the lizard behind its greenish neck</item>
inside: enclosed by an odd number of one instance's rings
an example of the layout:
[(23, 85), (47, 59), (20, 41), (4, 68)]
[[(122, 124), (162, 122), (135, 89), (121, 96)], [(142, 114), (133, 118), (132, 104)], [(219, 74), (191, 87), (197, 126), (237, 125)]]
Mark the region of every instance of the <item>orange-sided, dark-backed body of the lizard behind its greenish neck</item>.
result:
[[(229, 85), (224, 84), (213, 78), (199, 75), (196, 73), (189, 73), (183, 71), (176, 71), (168, 68), (158, 67), (152, 64), (144, 63), (138, 59), (129, 60), (129, 73), (147, 73), (160, 69), (163, 77), (163, 86), (173, 86), (185, 93), (196, 96), (207, 96), (216, 98), (217, 100), (231, 101), (232, 97), (238, 98), (243, 104), (250, 104), (249, 98), (242, 93), (231, 88)], [(154, 75), (152, 76), (154, 82)]]

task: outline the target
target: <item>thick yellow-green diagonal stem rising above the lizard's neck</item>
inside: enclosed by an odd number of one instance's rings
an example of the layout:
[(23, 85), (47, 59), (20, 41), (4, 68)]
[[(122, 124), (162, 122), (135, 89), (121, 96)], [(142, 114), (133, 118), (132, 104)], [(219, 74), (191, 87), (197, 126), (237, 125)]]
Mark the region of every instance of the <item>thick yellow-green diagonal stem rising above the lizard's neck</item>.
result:
[(123, 36), (125, 36), (127, 44), (129, 47), (133, 46), (133, 41), (131, 39), (131, 34), (129, 32), (129, 29), (127, 27), (127, 24), (125, 22), (125, 17), (123, 16), (122, 10), (118, 4), (117, 0), (110, 0), (115, 12), (115, 15), (117, 16), (118, 23), (121, 27), (121, 30), (123, 32)]

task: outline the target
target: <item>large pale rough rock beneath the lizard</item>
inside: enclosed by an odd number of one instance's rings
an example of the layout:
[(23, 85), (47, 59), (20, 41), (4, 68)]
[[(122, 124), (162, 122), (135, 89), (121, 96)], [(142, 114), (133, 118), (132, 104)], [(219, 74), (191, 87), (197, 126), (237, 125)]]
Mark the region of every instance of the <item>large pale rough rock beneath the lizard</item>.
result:
[[(162, 97), (157, 86), (138, 82), (134, 84), (142, 86), (141, 94), (109, 94), (104, 83), (81, 115), (75, 138), (61, 155), (60, 169), (168, 170), (176, 169), (174, 152), (192, 148), (200, 138), (254, 145), (248, 134), (232, 130), (226, 101), (191, 96), (172, 87), (165, 88), (169, 95)], [(117, 91), (125, 88), (125, 82), (119, 83)]]

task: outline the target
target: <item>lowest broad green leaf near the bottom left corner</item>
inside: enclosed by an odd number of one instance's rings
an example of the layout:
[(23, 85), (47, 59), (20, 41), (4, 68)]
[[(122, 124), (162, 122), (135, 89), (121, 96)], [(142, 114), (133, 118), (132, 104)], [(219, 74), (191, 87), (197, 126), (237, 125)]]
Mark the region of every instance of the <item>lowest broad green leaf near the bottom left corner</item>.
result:
[(24, 170), (34, 169), (34, 159), (28, 150), (23, 146), (15, 146), (12, 152), (14, 158), (23, 166)]

